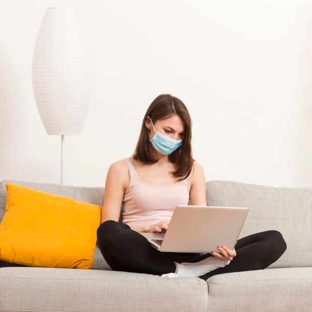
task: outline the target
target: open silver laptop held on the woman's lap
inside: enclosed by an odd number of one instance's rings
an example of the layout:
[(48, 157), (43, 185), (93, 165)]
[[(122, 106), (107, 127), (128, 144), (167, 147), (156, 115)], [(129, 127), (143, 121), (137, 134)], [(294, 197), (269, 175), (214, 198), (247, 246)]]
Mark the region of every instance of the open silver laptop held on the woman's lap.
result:
[(249, 208), (177, 205), (165, 233), (140, 233), (162, 252), (220, 253), (233, 250)]

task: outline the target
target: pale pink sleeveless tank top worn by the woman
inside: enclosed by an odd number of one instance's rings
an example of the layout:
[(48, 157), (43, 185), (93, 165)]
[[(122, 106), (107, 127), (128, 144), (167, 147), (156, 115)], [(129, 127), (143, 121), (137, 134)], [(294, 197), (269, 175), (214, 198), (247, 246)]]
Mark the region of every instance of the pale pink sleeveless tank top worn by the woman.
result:
[(128, 164), (130, 175), (123, 199), (123, 223), (138, 227), (170, 220), (176, 205), (188, 204), (188, 177), (170, 185), (149, 184), (140, 179), (129, 157), (123, 160)]

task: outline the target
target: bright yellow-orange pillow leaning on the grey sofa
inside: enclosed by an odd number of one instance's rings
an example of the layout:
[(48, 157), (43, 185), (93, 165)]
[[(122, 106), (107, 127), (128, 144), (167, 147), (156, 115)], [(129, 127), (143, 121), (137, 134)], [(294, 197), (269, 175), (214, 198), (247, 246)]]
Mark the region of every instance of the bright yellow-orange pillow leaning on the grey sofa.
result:
[(6, 183), (0, 259), (29, 267), (91, 269), (102, 207)]

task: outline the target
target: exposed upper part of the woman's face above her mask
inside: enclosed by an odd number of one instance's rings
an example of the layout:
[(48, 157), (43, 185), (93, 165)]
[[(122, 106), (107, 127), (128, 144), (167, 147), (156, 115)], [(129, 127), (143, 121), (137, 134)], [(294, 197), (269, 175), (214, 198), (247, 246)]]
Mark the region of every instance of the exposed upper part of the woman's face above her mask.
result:
[[(161, 134), (170, 137), (174, 140), (181, 140), (184, 137), (185, 128), (182, 119), (177, 116), (171, 116), (170, 118), (164, 119), (164, 120), (157, 120), (156, 122), (154, 120), (153, 125), (156, 131), (160, 132)], [(148, 117), (146, 121), (146, 127), (150, 128), (151, 130), (151, 138), (154, 137), (155, 131), (152, 126), (151, 120)]]

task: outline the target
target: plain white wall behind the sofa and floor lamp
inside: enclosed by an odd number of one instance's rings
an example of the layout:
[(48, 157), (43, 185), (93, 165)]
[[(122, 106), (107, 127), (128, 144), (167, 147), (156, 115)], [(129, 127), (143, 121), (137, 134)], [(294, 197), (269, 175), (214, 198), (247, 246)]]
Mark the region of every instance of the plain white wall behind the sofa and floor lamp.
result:
[(312, 186), (312, 1), (0, 0), (0, 180), (60, 183), (31, 84), (46, 7), (90, 23), (96, 85), (79, 136), (65, 137), (64, 184), (105, 186), (131, 156), (161, 93), (193, 122), (206, 180)]

